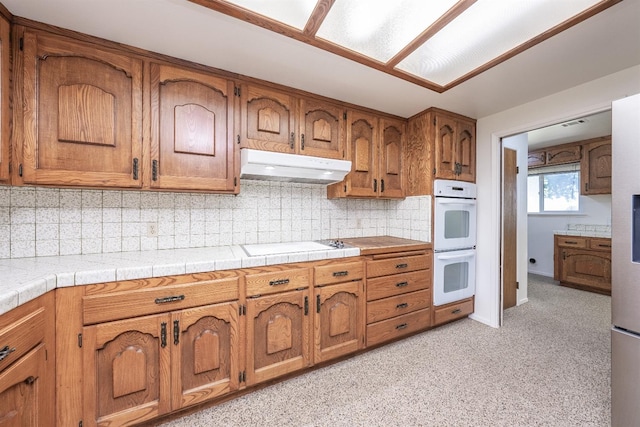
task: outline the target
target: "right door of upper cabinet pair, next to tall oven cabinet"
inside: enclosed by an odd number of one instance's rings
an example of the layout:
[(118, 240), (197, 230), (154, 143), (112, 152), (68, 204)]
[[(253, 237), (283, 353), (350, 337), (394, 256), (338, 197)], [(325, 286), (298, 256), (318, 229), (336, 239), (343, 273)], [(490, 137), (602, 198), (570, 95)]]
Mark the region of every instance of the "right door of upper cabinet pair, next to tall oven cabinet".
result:
[(406, 126), (400, 120), (382, 119), (380, 123), (380, 196), (402, 198)]

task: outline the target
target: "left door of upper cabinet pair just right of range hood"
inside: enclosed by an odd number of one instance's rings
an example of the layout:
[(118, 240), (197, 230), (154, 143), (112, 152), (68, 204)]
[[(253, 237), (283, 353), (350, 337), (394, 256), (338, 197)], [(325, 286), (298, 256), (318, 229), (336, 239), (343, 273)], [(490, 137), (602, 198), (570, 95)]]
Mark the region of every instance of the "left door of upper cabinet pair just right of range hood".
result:
[(372, 115), (357, 111), (347, 113), (348, 157), (352, 162), (346, 178), (347, 196), (375, 197), (377, 194), (377, 123), (378, 119)]

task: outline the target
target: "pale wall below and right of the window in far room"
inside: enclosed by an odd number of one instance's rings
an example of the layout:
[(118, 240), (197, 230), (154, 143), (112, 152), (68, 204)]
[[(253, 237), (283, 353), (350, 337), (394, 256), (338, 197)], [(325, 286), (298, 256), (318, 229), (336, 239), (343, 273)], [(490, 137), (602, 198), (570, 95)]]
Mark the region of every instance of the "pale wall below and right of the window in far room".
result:
[(553, 277), (553, 234), (571, 224), (611, 225), (611, 194), (580, 196), (580, 215), (530, 214), (528, 263), (531, 273)]

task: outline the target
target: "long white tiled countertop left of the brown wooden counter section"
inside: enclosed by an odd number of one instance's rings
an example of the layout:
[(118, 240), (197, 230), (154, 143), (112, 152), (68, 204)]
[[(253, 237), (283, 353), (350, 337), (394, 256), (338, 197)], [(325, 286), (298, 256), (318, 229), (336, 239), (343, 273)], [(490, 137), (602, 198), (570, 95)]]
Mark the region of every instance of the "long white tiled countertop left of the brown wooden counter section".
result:
[(241, 246), (0, 260), (0, 314), (55, 288), (360, 255), (358, 247), (248, 256)]

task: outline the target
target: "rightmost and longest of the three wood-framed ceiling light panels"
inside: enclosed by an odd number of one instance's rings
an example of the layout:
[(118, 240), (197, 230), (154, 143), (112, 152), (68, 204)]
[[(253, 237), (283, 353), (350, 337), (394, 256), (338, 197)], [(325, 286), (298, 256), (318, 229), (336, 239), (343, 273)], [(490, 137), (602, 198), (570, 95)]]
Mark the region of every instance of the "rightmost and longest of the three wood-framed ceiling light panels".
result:
[(478, 0), (397, 65), (445, 86), (600, 0)]

